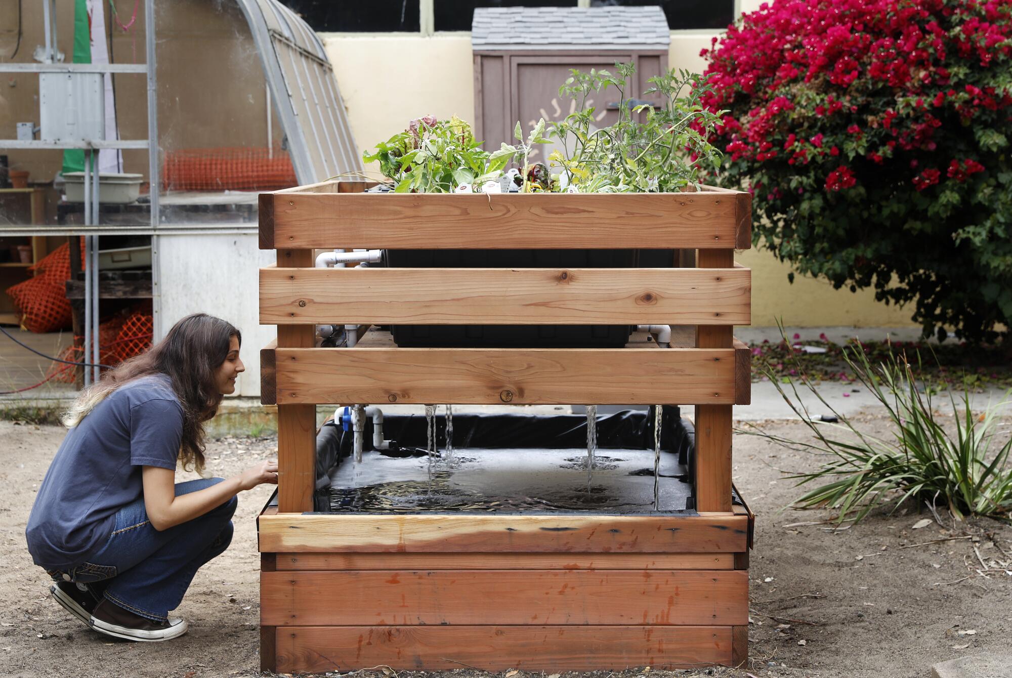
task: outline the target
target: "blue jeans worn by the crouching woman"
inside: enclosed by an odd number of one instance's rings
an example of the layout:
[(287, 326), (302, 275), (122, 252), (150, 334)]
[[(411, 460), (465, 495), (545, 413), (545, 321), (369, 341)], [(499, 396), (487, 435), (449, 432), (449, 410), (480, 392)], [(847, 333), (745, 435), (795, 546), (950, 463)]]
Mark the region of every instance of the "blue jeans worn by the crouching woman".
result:
[[(176, 484), (176, 496), (221, 483), (221, 478)], [(201, 516), (161, 532), (151, 526), (144, 498), (116, 512), (108, 541), (70, 574), (73, 581), (104, 589), (107, 600), (135, 614), (164, 621), (207, 561), (232, 541), (236, 498)], [(63, 573), (50, 573), (62, 581)]]

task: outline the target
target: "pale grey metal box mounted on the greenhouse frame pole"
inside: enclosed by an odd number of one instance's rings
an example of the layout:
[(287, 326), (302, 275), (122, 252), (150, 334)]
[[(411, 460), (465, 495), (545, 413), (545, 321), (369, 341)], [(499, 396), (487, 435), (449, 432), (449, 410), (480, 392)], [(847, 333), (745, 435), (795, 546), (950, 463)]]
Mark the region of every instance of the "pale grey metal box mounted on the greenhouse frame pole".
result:
[(105, 139), (101, 73), (39, 73), (38, 106), (44, 141)]

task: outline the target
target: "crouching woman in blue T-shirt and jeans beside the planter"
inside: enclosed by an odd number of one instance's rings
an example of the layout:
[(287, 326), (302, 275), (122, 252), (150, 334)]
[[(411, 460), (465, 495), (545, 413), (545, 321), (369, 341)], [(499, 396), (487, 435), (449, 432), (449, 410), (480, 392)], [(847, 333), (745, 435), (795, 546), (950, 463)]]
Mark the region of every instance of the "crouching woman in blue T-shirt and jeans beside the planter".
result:
[(236, 390), (241, 340), (224, 320), (184, 318), (64, 416), (70, 431), (35, 497), (28, 550), (57, 602), (97, 631), (132, 641), (185, 633), (186, 621), (168, 612), (228, 548), (236, 495), (277, 483), (275, 461), (175, 483), (177, 460), (203, 469), (203, 423)]

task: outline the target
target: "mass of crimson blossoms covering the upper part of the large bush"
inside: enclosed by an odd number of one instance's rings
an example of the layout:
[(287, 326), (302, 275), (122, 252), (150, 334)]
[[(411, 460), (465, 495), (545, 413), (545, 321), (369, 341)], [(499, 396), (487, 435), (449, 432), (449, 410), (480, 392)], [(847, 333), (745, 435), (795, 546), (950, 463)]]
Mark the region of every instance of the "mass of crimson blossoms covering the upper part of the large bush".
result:
[(869, 172), (918, 190), (944, 180), (907, 169), (920, 159), (948, 163), (945, 177), (964, 182), (984, 167), (940, 135), (964, 136), (956, 128), (984, 123), (982, 111), (1012, 119), (1000, 73), (1012, 56), (1012, 0), (775, 0), (702, 56), (705, 105), (728, 111), (714, 143), (723, 138), (742, 176), (810, 166), (834, 192)]

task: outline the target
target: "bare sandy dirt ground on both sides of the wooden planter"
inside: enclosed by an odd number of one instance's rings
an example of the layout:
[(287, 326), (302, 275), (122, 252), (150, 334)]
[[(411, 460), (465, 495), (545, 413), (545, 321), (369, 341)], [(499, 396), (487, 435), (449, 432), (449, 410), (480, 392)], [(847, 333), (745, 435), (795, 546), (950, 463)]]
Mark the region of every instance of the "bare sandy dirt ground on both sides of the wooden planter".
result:
[[(870, 431), (884, 431), (880, 419), (860, 422)], [(782, 435), (804, 435), (796, 423), (759, 425)], [(63, 435), (58, 427), (0, 422), (0, 586), (7, 601), (0, 607), (0, 675), (260, 675), (254, 520), (270, 489), (260, 487), (240, 497), (231, 548), (197, 573), (177, 610), (190, 622), (185, 637), (158, 644), (115, 642), (85, 628), (50, 598), (45, 573), (25, 549), (28, 511)], [(235, 474), (273, 455), (275, 446), (274, 438), (213, 441), (208, 471)], [(798, 524), (830, 517), (825, 511), (780, 511), (799, 494), (784, 472), (816, 463), (811, 455), (736, 435), (735, 482), (758, 514), (748, 667), (693, 672), (655, 667), (586, 675), (914, 678), (928, 676), (935, 662), (986, 650), (1008, 652), (1012, 528), (982, 520), (931, 523), (915, 530), (918, 520), (931, 517), (915, 507), (893, 516), (880, 512), (839, 531), (825, 523)], [(180, 474), (179, 480), (188, 477)], [(977, 572), (985, 570), (982, 561), (988, 566), (986, 576)], [(382, 672), (368, 674), (384, 678)], [(398, 674), (422, 675), (437, 674)], [(461, 669), (438, 675), (491, 674)], [(542, 678), (547, 671), (534, 675)]]

